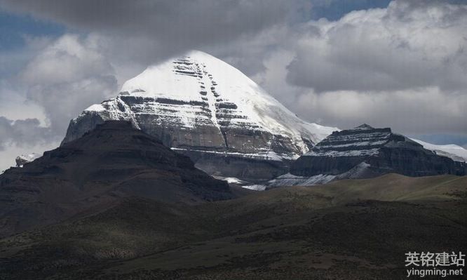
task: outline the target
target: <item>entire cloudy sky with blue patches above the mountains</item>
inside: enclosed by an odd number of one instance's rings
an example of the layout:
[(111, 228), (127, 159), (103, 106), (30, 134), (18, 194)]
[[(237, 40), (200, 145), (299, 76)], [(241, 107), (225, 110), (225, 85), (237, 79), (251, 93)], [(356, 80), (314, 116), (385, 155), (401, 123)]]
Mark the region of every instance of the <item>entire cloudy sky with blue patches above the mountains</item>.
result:
[(148, 65), (198, 49), (307, 121), (467, 147), (467, 5), (0, 0), (0, 170)]

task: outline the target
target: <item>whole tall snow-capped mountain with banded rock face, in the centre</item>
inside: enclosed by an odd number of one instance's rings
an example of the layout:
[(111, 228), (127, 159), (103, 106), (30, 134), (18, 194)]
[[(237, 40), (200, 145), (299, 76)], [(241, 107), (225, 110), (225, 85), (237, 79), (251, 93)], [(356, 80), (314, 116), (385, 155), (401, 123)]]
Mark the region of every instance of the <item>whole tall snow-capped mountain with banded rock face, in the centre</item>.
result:
[[(338, 130), (302, 121), (238, 69), (201, 51), (152, 65), (126, 81), (116, 98), (92, 105), (72, 120), (64, 142), (108, 119), (131, 121), (191, 156), (208, 173), (241, 179), (249, 176), (245, 174), (280, 175), (287, 170), (285, 161)], [(280, 166), (280, 172), (261, 175), (240, 161), (236, 168), (241, 174), (222, 171), (219, 156), (276, 161), (273, 168)], [(270, 170), (271, 164), (266, 165), (260, 169)]]

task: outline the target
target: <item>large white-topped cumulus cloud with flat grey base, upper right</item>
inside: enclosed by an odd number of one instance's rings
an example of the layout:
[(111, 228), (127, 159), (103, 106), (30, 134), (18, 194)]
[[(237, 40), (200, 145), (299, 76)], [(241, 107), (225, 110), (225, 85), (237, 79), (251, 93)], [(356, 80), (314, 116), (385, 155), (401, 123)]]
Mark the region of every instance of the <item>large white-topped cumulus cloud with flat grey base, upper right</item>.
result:
[(340, 20), (306, 23), (291, 84), (323, 91), (466, 88), (467, 6), (393, 1)]

